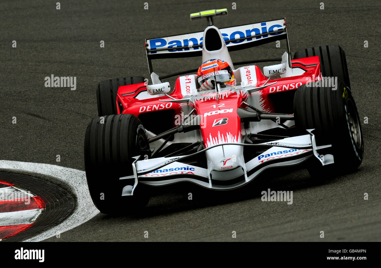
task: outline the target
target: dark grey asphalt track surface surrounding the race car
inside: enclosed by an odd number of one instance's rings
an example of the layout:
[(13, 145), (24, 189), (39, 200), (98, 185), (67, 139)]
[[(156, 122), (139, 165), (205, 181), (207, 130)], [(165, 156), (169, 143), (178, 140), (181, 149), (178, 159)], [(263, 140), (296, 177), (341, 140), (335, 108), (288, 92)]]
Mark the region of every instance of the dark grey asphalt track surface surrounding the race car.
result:
[[(229, 16), (215, 19), (220, 28), (286, 17), (292, 52), (328, 44), (344, 49), (360, 118), (368, 117), (362, 123), (365, 155), (359, 170), (319, 182), (305, 169), (265, 174), (260, 183), (233, 193), (166, 187), (140, 214), (98, 214), (46, 241), (381, 241), (381, 3), (235, 2), (236, 10), (230, 1), (61, 1), (56, 10), (56, 1), (1, 1), (0, 159), (84, 170), (83, 139), (88, 122), (97, 116), (99, 81), (148, 77), (145, 38), (202, 31), (206, 22), (191, 22), (189, 14), (226, 7)], [(11, 47), (12, 40), (17, 48)], [(285, 50), (284, 43), (281, 48), (271, 44), (233, 53), (232, 59), (280, 57)], [(162, 75), (200, 63), (158, 61), (154, 70)], [(77, 89), (45, 88), (44, 78), (51, 74), (76, 76)], [(267, 188), (293, 191), (293, 204), (262, 202), (261, 191)]]

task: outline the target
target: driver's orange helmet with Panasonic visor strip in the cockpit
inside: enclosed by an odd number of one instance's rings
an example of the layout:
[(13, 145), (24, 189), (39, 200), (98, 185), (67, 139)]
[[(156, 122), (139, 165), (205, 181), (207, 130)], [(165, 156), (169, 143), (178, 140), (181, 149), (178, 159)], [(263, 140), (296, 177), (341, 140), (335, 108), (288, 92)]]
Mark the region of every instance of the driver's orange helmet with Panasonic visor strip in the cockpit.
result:
[(235, 85), (232, 67), (226, 61), (210, 59), (205, 61), (197, 71), (200, 91), (214, 89), (215, 80), (227, 85)]

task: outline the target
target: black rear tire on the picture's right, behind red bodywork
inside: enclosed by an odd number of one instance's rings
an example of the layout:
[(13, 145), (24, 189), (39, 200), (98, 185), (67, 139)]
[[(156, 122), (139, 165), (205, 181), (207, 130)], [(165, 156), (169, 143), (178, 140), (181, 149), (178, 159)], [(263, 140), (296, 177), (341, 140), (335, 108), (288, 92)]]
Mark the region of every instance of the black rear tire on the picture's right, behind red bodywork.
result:
[(337, 77), (351, 87), (348, 75), (347, 59), (339, 45), (315, 46), (295, 52), (294, 59), (319, 56), (323, 77)]

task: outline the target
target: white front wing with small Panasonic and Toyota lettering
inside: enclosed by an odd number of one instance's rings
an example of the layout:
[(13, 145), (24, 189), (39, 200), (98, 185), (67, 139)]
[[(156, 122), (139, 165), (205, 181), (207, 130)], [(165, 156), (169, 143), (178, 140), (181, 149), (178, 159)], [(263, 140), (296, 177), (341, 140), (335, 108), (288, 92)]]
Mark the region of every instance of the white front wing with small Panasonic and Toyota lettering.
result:
[[(331, 147), (331, 145), (317, 147), (312, 130), (313, 129), (307, 129), (309, 133), (307, 135), (288, 137), (261, 144), (219, 144), (205, 148), (191, 155), (160, 157), (146, 160), (140, 160), (140, 157), (136, 156), (136, 160), (133, 162), (134, 175), (120, 178), (120, 180), (134, 179), (134, 185), (126, 185), (123, 188), (122, 196), (133, 195), (133, 191), (136, 185), (138, 185), (138, 182), (152, 186), (163, 186), (177, 182), (192, 182), (214, 190), (229, 190), (245, 185), (258, 177), (258, 175), (266, 169), (297, 165), (312, 155), (314, 155), (322, 165), (333, 163), (333, 155), (327, 154), (323, 156), (317, 152), (317, 150)], [(179, 161), (194, 156), (195, 154), (203, 153), (210, 148), (224, 145), (267, 146), (269, 149), (246, 162), (245, 173), (242, 176), (225, 180), (223, 185), (213, 183), (207, 169)], [(227, 172), (228, 175), (229, 170), (224, 172)]]

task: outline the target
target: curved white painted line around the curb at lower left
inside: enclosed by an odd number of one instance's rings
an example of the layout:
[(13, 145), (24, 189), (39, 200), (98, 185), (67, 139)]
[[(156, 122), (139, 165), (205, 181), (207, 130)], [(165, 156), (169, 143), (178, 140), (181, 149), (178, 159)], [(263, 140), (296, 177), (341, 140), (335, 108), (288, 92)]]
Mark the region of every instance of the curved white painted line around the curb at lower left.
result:
[(67, 217), (67, 219), (63, 222), (59, 223), (56, 227), (27, 239), (24, 242), (37, 242), (56, 236), (58, 233), (66, 232), (74, 227), (77, 227), (78, 225), (81, 225), (82, 223), (87, 222), (99, 213), (98, 209), (94, 206), (93, 201), (91, 200), (90, 193), (87, 188), (85, 171), (50, 164), (7, 160), (0, 160), (0, 169), (34, 172), (54, 177), (57, 180), (61, 180), (65, 184), (70, 184), (76, 195), (75, 198), (77, 199), (77, 206), (75, 207), (73, 214)]

